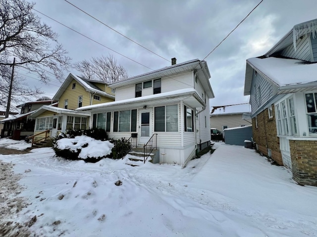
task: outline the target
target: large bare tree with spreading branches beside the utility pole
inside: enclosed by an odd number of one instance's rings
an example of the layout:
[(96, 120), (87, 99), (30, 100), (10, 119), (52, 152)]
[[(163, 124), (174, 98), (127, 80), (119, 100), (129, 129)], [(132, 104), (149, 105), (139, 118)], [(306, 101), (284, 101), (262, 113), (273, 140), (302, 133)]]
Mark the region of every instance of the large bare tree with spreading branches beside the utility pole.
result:
[(57, 42), (57, 34), (32, 12), (34, 4), (26, 0), (0, 0), (0, 105), (5, 102), (9, 105), (16, 96), (36, 97), (40, 93), (15, 73), (12, 95), (8, 98), (8, 90), (2, 85), (11, 79), (9, 67), (13, 58), (16, 69), (33, 72), (45, 83), (50, 81), (49, 74), (61, 81), (63, 71), (70, 66), (70, 58)]

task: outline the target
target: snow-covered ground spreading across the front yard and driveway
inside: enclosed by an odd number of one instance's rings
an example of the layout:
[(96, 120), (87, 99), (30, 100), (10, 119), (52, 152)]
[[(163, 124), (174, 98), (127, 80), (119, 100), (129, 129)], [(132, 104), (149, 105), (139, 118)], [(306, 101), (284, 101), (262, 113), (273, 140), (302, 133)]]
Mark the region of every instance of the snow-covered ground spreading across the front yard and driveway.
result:
[(20, 211), (2, 212), (0, 227), (17, 222), (24, 233), (45, 237), (317, 236), (317, 187), (297, 185), (289, 170), (254, 150), (214, 148), (184, 169), (108, 158), (66, 161), (50, 148), (0, 155), (1, 168), (9, 163), (23, 186), (8, 194), (12, 179), (0, 178), (0, 195), (24, 199), (12, 201), (20, 201)]

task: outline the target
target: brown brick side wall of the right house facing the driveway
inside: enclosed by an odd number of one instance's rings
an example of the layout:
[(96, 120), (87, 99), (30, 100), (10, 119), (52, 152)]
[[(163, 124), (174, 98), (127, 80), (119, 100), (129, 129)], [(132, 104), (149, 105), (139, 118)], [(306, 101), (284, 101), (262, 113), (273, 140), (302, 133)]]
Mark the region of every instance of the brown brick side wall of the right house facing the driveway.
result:
[(267, 156), (267, 149), (271, 150), (271, 158), (283, 165), (282, 155), (279, 150), (279, 138), (277, 137), (275, 108), (272, 105), (273, 118), (268, 118), (268, 110), (261, 112), (256, 127), (256, 118), (252, 118), (253, 140), (258, 144), (259, 151)]

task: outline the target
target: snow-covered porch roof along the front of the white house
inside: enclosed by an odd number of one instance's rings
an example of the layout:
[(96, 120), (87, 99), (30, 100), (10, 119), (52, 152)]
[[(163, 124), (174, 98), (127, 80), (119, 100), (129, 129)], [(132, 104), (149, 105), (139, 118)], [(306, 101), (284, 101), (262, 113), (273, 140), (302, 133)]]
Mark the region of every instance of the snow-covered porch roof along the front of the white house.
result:
[(199, 97), (197, 91), (193, 88), (181, 89), (170, 92), (164, 92), (154, 95), (141, 96), (137, 98), (131, 98), (126, 100), (118, 100), (113, 102), (107, 102), (97, 105), (89, 105), (77, 108), (77, 111), (84, 110), (98, 110), (98, 109), (113, 109), (113, 108), (131, 108), (131, 106), (152, 106), (157, 104), (166, 104), (172, 102), (179, 102), (180, 100), (186, 101), (186, 103), (195, 108), (195, 107), (204, 107), (206, 106), (205, 102)]

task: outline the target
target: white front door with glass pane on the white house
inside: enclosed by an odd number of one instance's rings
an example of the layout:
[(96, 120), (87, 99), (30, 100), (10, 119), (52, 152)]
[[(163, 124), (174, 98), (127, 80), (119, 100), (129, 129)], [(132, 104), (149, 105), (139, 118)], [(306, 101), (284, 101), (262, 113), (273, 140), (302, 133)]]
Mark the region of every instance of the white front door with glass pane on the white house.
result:
[(151, 111), (140, 111), (139, 143), (146, 144), (152, 136)]

